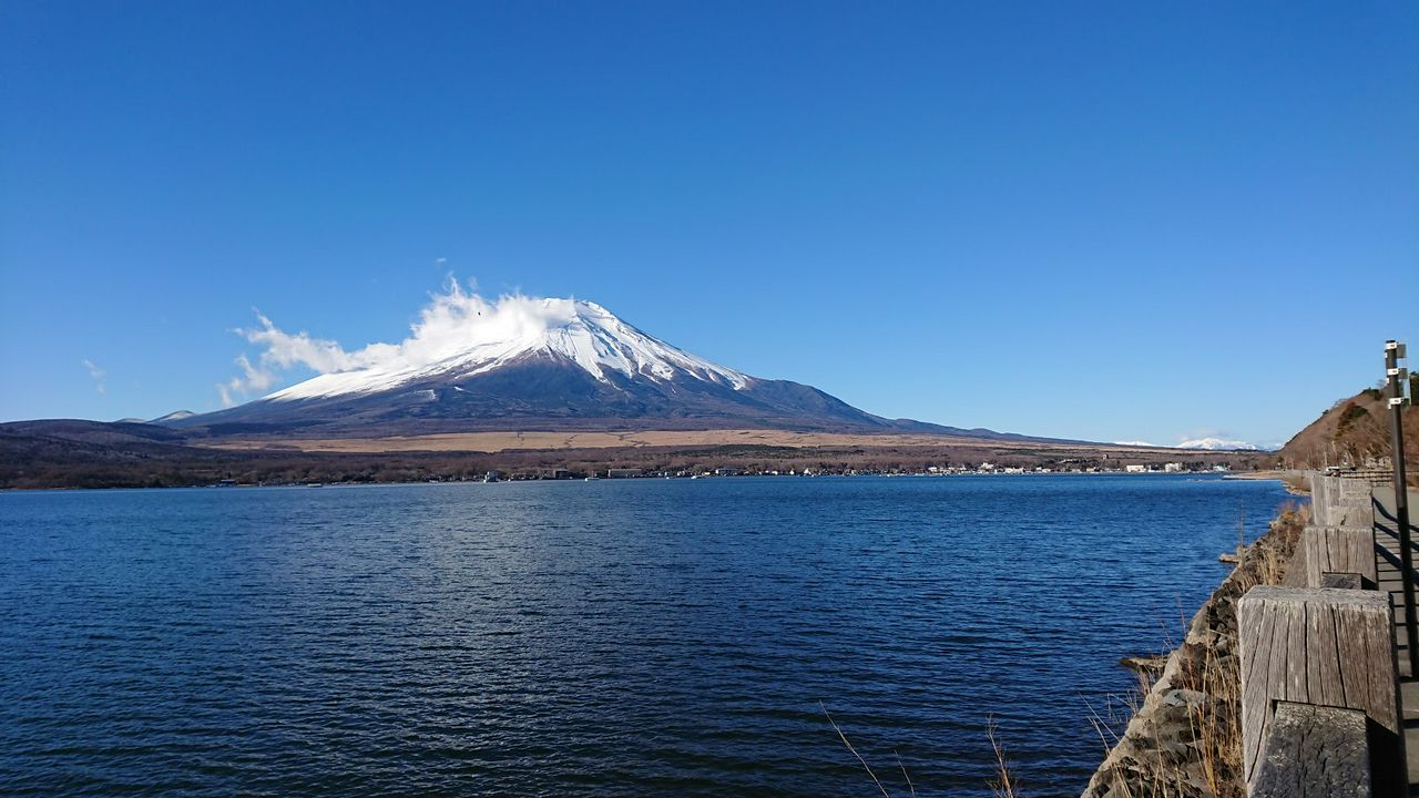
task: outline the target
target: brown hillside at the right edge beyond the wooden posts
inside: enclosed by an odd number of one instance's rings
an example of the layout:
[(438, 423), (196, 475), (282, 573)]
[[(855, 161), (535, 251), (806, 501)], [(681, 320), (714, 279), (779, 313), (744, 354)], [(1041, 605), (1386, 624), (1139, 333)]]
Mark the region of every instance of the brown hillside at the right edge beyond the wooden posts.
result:
[[(1413, 388), (1413, 385), (1412, 385)], [(1391, 412), (1385, 390), (1365, 389), (1341, 399), (1277, 452), (1286, 469), (1364, 466), (1366, 460), (1389, 457)], [(1419, 409), (1405, 409), (1405, 463), (1410, 474), (1419, 470)]]

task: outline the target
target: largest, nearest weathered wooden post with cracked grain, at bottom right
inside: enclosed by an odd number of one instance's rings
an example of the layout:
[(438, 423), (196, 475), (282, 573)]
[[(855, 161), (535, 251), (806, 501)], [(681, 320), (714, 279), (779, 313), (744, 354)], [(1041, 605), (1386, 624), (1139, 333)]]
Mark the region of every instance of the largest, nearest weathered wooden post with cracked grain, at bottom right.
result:
[(1376, 591), (1252, 588), (1237, 602), (1242, 755), (1249, 789), (1276, 701), (1365, 713), (1378, 794), (1406, 784), (1389, 598)]

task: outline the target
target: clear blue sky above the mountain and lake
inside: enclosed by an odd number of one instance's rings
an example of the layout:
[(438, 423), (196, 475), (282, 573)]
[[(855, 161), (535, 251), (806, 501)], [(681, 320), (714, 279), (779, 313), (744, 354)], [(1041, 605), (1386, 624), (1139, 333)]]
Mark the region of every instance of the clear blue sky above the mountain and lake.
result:
[(450, 273), (1097, 440), (1419, 351), (1409, 0), (10, 0), (0, 68), (3, 420), (217, 409), (253, 307), (399, 341)]

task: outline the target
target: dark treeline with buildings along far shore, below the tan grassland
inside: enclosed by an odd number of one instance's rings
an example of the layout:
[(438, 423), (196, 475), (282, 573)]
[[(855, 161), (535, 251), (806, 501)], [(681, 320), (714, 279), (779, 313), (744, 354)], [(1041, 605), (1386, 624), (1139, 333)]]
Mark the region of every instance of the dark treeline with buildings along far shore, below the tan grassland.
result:
[(1151, 466), (1253, 470), (1254, 452), (1130, 450), (944, 439), (939, 446), (634, 446), (482, 452), (299, 452), (193, 446), (152, 425), (0, 425), (0, 488), (192, 487), (211, 484), (406, 483), (582, 479), (619, 474), (912, 474), (952, 469), (1100, 471)]

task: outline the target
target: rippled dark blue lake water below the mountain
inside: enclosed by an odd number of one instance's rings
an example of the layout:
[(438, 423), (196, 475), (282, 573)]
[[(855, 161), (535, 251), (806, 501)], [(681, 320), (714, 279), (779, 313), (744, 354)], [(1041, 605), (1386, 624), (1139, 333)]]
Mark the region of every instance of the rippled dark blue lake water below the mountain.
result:
[(0, 794), (1078, 794), (1274, 481), (0, 494)]

